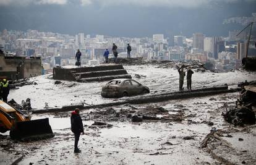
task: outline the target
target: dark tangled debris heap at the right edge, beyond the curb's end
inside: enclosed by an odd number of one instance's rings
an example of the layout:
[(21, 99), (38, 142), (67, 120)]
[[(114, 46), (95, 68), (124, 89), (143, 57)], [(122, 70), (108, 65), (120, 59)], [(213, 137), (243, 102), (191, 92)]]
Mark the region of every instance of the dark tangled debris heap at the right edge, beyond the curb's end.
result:
[(255, 124), (256, 85), (254, 83), (247, 81), (239, 83), (242, 89), (240, 98), (237, 99), (235, 108), (223, 113), (225, 121), (241, 126)]

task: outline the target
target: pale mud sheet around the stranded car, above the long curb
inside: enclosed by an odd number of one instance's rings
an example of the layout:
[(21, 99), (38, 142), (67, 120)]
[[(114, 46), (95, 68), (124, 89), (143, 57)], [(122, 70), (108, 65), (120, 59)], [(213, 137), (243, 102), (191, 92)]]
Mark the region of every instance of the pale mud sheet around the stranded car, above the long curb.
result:
[[(173, 67), (161, 67), (158, 65), (124, 66), (134, 80), (147, 85), (150, 94), (167, 93), (179, 89), (179, 73)], [(126, 98), (102, 98), (101, 88), (106, 82), (78, 83), (61, 81), (54, 85), (52, 76), (44, 75), (31, 78), (37, 85), (25, 85), (18, 90), (11, 90), (9, 99), (15, 99), (21, 103), (22, 99), (31, 99), (32, 108), (43, 109), (45, 103), (49, 108), (62, 107), (64, 105), (87, 103), (102, 104), (113, 103)], [(218, 85), (237, 85), (238, 82), (256, 80), (255, 72), (235, 70), (234, 72), (213, 73), (195, 72), (192, 75), (192, 88), (213, 87)], [(186, 90), (186, 78), (184, 80)]]

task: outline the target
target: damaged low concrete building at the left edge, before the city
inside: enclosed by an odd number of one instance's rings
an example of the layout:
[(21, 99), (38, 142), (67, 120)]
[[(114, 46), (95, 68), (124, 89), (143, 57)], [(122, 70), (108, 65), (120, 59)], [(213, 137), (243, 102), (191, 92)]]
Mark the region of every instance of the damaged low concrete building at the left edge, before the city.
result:
[(0, 54), (0, 77), (9, 80), (34, 77), (42, 74), (41, 57), (5, 56)]

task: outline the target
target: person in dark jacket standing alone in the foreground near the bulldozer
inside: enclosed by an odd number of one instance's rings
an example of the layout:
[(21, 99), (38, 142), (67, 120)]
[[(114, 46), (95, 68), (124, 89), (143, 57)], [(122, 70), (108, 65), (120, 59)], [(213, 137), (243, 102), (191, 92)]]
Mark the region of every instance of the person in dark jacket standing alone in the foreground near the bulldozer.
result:
[(79, 115), (79, 108), (75, 108), (75, 111), (71, 113), (70, 121), (71, 121), (71, 130), (75, 135), (75, 149), (74, 153), (80, 153), (81, 150), (77, 147), (79, 142), (80, 134), (83, 133), (83, 122)]

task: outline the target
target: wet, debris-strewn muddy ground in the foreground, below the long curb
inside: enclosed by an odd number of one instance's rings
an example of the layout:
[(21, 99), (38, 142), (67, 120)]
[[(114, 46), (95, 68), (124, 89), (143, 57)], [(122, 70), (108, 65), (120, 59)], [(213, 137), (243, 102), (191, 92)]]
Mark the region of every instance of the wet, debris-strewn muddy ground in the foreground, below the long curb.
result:
[[(0, 164), (11, 164), (18, 158), (19, 164), (224, 164), (208, 153), (207, 148), (200, 148), (200, 143), (213, 129), (225, 130), (223, 138), (229, 140), (233, 148), (238, 148), (239, 152), (228, 154), (228, 157), (234, 155), (237, 164), (250, 159), (250, 164), (256, 159), (255, 127), (245, 132), (244, 127), (234, 127), (221, 116), (223, 104), (234, 106), (238, 95), (227, 93), (87, 109), (81, 112), (85, 135), (80, 137), (82, 153), (79, 154), (73, 152), (70, 112), (35, 115), (32, 119), (49, 117), (55, 137), (36, 142), (14, 142), (6, 134), (1, 135)], [(160, 119), (132, 122), (130, 116), (135, 114)], [(108, 125), (92, 126), (94, 121)], [(214, 145), (217, 153), (228, 152), (220, 143)], [(247, 157), (241, 153), (246, 153)]]

